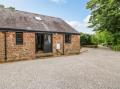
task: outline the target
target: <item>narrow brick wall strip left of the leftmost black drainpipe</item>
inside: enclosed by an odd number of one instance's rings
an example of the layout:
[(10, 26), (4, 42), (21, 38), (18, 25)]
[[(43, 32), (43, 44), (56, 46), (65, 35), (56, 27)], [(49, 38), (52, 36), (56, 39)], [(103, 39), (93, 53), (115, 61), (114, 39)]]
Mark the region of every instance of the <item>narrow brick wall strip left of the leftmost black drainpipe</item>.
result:
[(4, 61), (5, 47), (4, 47), (4, 33), (0, 32), (0, 62)]

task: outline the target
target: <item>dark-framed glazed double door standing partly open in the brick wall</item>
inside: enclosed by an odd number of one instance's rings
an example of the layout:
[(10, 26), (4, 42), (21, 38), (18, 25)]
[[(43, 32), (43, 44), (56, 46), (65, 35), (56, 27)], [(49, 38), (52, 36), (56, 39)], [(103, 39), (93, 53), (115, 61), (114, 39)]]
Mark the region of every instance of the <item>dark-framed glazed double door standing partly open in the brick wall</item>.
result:
[(52, 35), (36, 33), (36, 52), (52, 52)]

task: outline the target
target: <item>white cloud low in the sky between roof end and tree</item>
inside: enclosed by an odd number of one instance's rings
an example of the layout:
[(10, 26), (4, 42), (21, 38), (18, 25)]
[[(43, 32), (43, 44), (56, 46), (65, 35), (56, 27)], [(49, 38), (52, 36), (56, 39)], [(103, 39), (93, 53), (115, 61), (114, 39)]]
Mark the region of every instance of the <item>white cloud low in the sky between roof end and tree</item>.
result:
[(92, 28), (88, 28), (89, 18), (90, 15), (88, 15), (85, 19), (83, 19), (83, 21), (67, 21), (67, 23), (79, 32), (93, 34), (94, 32), (92, 31)]

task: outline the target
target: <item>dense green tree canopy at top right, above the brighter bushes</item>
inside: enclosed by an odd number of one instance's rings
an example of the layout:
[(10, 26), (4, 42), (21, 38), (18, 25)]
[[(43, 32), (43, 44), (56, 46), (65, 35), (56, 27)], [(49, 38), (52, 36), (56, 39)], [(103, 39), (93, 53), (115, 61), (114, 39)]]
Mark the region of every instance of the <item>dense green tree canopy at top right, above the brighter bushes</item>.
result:
[(120, 0), (90, 0), (87, 9), (92, 11), (89, 27), (95, 31), (120, 32)]

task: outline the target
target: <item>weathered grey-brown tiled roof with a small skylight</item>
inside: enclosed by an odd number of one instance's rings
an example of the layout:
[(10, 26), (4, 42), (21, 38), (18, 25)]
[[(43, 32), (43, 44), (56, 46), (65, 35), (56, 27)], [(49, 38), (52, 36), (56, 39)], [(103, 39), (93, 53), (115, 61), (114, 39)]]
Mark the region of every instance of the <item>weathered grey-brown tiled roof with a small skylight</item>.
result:
[(78, 33), (60, 18), (3, 8), (0, 8), (0, 28)]

